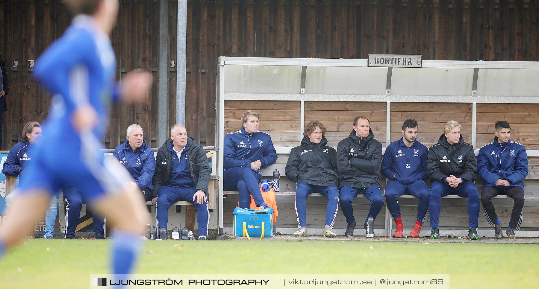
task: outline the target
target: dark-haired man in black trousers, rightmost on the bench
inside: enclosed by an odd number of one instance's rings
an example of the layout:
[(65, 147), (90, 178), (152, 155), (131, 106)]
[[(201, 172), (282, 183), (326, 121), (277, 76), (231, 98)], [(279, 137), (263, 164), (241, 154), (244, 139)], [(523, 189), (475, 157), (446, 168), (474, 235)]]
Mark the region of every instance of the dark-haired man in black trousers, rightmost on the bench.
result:
[(481, 203), (485, 217), (494, 226), (494, 235), (502, 237), (501, 222), (492, 205), (492, 198), (507, 195), (515, 201), (506, 235), (514, 239), (515, 230), (520, 229), (524, 207), (524, 186), (522, 180), (528, 175), (528, 156), (526, 147), (510, 140), (511, 126), (506, 121), (494, 125), (494, 141), (479, 150), (477, 168), (479, 177), (485, 182), (481, 190)]

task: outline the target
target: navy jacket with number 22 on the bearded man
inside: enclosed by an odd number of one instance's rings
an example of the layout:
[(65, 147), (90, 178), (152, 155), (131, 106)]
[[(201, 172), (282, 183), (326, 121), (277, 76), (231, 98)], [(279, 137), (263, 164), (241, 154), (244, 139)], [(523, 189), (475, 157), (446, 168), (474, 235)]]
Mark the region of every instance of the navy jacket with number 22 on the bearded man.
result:
[(385, 149), (382, 160), (382, 173), (390, 180), (396, 180), (400, 184), (412, 184), (414, 181), (428, 179), (427, 159), (429, 149), (418, 142), (413, 142), (407, 147), (403, 138), (391, 143)]

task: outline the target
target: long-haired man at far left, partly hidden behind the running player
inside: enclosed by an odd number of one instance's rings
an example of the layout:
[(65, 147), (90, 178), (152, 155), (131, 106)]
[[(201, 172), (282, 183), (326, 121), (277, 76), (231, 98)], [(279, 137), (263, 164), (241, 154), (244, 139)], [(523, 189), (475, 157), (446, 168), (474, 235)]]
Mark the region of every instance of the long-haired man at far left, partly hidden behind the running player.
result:
[[(32, 144), (39, 142), (42, 132), (41, 125), (38, 122), (29, 122), (24, 125), (23, 139), (11, 148), (5, 160), (4, 168), (2, 169), (5, 175), (19, 177), (19, 179), (25, 175), (23, 170), (30, 164), (34, 157), (30, 148)], [(6, 197), (6, 208), (11, 205), (11, 198), (15, 196), (13, 193)], [(51, 202), (45, 213), (45, 239), (52, 239), (56, 215), (58, 215), (58, 201), (55, 196), (51, 198)]]

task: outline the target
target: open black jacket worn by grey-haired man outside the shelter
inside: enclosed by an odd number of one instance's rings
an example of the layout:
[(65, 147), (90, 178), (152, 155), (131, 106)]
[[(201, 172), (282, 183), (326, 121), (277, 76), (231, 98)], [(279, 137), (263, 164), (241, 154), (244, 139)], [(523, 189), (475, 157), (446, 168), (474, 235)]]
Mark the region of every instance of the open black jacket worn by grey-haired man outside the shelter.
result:
[[(172, 172), (172, 152), (168, 150), (172, 139), (168, 139), (157, 150), (157, 158), (155, 160), (155, 173), (152, 182), (154, 189), (151, 192), (150, 198), (155, 198), (162, 186), (169, 184), (170, 173)], [(201, 145), (197, 144), (194, 138), (189, 137), (187, 139), (187, 145), (189, 150), (186, 152), (189, 172), (191, 173), (191, 179), (196, 185), (196, 189), (208, 194), (208, 186), (210, 184), (211, 169), (208, 163), (208, 157)]]

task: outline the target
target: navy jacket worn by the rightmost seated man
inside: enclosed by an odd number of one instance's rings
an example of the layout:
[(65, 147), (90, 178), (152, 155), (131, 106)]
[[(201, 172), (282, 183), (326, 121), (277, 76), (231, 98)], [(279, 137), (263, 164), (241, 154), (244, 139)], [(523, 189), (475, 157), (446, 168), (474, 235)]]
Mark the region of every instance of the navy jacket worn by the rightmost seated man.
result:
[(485, 182), (483, 186), (496, 186), (498, 179), (507, 180), (511, 186), (524, 189), (522, 180), (528, 175), (528, 155), (526, 147), (512, 142), (494, 142), (481, 147), (477, 157), (477, 171)]

